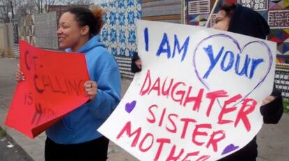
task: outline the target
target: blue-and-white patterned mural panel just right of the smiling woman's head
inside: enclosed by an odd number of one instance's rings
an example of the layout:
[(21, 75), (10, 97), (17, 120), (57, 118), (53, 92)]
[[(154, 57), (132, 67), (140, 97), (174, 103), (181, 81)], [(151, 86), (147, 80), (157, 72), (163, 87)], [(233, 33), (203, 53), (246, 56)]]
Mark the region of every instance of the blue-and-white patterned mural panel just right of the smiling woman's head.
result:
[(101, 38), (112, 54), (132, 56), (137, 51), (135, 20), (141, 17), (140, 0), (101, 3), (106, 12)]

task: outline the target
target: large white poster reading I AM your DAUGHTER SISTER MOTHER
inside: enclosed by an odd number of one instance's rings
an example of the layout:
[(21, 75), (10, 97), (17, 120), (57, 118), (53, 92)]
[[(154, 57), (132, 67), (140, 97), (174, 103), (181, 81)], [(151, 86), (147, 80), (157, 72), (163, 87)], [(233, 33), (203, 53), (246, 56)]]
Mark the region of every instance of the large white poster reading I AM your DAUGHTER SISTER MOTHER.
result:
[(140, 160), (218, 160), (262, 126), (276, 44), (236, 33), (138, 21), (137, 73), (98, 129)]

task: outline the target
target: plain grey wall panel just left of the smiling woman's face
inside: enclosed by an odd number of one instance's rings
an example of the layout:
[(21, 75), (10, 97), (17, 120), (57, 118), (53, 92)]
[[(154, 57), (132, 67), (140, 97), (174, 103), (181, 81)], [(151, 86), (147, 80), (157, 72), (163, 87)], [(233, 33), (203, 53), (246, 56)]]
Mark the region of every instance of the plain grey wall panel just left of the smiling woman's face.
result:
[(36, 15), (35, 20), (36, 46), (58, 49), (57, 12)]

